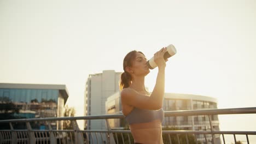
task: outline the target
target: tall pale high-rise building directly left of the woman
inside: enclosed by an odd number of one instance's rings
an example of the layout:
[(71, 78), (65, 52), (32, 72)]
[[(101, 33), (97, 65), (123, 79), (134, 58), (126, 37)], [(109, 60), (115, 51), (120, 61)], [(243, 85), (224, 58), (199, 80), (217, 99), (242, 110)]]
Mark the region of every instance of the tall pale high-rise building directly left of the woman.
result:
[[(120, 75), (114, 70), (89, 75), (85, 88), (85, 116), (106, 114), (105, 102), (110, 95), (119, 92)], [(85, 121), (84, 125), (84, 129), (106, 129), (104, 120)]]

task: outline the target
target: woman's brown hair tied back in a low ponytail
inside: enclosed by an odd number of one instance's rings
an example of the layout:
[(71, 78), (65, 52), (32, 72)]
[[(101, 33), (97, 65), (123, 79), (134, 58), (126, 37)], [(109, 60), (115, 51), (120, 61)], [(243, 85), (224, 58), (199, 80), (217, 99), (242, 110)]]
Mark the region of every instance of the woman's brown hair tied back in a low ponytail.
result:
[(142, 55), (144, 55), (140, 51), (133, 50), (133, 51), (127, 53), (127, 55), (124, 58), (124, 62), (123, 62), (124, 73), (121, 74), (121, 80), (120, 80), (120, 84), (119, 84), (120, 90), (122, 90), (123, 88), (129, 87), (132, 83), (132, 81), (131, 81), (132, 77), (125, 69), (126, 69), (126, 67), (132, 66), (132, 62), (136, 58), (136, 52), (139, 52)]

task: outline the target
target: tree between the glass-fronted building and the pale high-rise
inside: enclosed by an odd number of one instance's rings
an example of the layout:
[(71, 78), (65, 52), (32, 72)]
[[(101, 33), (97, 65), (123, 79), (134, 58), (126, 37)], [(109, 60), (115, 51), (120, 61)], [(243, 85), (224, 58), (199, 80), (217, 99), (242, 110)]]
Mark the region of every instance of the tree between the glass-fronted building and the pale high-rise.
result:
[[(74, 117), (74, 115), (75, 115), (74, 107), (68, 107), (68, 105), (66, 105), (64, 107), (64, 117)], [(63, 121), (63, 129), (73, 129), (73, 125), (71, 121)]]

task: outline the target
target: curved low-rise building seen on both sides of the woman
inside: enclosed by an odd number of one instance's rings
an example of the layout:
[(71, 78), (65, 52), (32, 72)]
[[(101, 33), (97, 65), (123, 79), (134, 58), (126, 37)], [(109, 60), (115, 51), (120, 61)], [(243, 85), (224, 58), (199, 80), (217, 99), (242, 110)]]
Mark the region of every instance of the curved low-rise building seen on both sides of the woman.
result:
[[(165, 93), (164, 111), (178, 110), (202, 110), (202, 109), (217, 109), (217, 99), (194, 94), (177, 94)], [(106, 101), (106, 113), (116, 114), (121, 112), (120, 92), (116, 92)], [(211, 117), (214, 130), (219, 130), (218, 116)], [(109, 125), (112, 129), (128, 129), (128, 124), (125, 119), (109, 119)], [(165, 117), (162, 123), (163, 128), (176, 128), (179, 130), (211, 130), (208, 116), (177, 116)], [(220, 137), (215, 136), (216, 143), (220, 143)], [(212, 136), (206, 136), (207, 143), (211, 143)], [(204, 135), (197, 135), (197, 140), (205, 142)]]

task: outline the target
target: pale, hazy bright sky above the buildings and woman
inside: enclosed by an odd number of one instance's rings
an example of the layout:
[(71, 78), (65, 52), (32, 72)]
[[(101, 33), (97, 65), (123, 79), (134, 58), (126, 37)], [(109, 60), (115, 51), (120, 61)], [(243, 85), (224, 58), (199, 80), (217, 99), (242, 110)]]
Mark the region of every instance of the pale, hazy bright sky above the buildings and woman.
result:
[[(76, 116), (90, 74), (122, 72), (126, 53), (149, 59), (169, 44), (177, 53), (166, 66), (167, 93), (255, 107), (255, 1), (0, 0), (0, 82), (66, 85)], [(150, 91), (156, 74), (146, 77)], [(220, 130), (256, 129), (255, 115), (219, 119)]]

